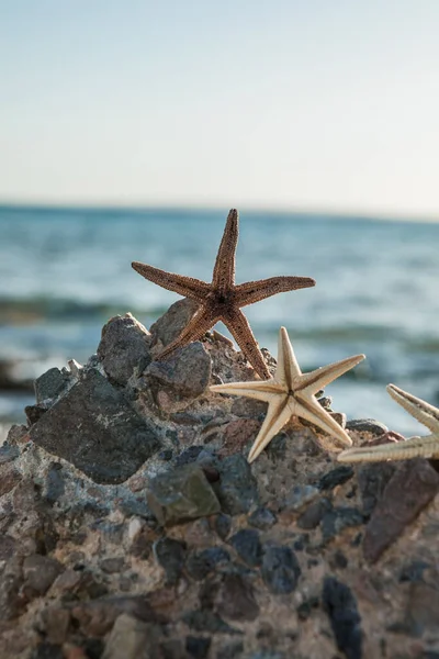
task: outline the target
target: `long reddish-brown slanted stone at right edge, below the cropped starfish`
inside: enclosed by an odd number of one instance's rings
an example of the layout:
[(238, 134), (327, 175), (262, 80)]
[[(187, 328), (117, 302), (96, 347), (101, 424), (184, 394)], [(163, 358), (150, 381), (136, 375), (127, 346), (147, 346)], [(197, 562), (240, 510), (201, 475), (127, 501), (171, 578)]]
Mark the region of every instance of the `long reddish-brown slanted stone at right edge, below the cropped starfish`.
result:
[(439, 491), (439, 473), (424, 458), (403, 462), (378, 502), (363, 540), (364, 558), (376, 561)]

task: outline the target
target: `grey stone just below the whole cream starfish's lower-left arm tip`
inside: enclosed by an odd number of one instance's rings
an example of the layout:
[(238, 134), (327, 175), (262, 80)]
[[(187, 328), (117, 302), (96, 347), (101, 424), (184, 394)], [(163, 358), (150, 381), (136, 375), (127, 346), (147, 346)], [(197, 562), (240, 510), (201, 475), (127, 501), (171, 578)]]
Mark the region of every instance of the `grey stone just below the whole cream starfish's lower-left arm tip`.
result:
[(230, 515), (248, 513), (258, 505), (259, 494), (250, 465), (244, 456), (234, 455), (218, 462), (219, 483), (214, 483), (223, 512)]

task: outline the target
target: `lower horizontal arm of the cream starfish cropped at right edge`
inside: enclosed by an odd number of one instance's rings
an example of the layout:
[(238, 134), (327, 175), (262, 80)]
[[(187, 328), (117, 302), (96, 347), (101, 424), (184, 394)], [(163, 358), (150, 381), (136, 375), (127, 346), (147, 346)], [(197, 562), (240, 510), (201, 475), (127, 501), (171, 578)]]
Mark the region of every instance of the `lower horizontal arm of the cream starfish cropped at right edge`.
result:
[(410, 437), (405, 442), (348, 448), (337, 456), (337, 460), (340, 462), (383, 462), (384, 460), (409, 460), (417, 457), (439, 458), (439, 436)]

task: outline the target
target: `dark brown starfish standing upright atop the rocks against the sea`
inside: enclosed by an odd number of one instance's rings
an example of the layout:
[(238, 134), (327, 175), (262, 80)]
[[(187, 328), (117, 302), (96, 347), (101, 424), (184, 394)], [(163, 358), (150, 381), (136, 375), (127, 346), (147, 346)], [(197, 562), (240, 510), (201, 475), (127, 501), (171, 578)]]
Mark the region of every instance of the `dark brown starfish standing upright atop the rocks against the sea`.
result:
[(275, 293), (315, 286), (315, 281), (309, 277), (272, 277), (235, 284), (237, 243), (238, 211), (232, 209), (216, 256), (212, 283), (166, 272), (137, 261), (132, 264), (133, 268), (145, 279), (199, 303), (198, 311), (185, 328), (158, 355), (157, 359), (165, 359), (177, 348), (201, 338), (217, 321), (222, 321), (259, 376), (261, 378), (270, 377), (270, 371), (256, 343), (251, 327), (240, 308), (270, 298)]

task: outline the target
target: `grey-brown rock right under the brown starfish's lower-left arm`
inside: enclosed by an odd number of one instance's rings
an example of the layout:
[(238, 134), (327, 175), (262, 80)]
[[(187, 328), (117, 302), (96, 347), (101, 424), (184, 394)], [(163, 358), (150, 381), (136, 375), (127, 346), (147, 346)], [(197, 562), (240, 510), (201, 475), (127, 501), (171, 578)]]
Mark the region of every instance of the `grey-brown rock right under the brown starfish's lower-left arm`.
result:
[(175, 403), (190, 402), (205, 391), (211, 370), (211, 358), (203, 344), (194, 342), (176, 350), (165, 361), (153, 361), (145, 377), (157, 404), (176, 412)]

